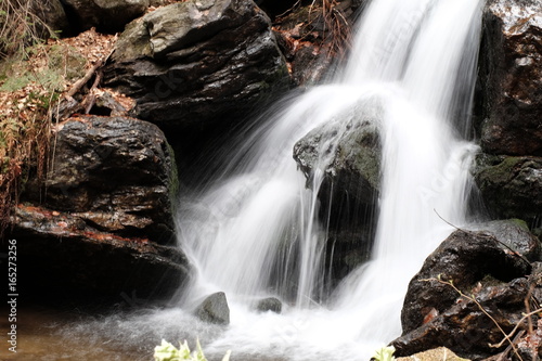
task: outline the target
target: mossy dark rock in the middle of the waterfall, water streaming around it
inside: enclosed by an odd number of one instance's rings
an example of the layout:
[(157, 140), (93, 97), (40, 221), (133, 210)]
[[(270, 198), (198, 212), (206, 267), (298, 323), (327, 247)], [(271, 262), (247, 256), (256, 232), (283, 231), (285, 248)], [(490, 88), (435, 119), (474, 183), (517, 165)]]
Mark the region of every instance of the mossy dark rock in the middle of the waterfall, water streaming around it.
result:
[(294, 158), (313, 188), (314, 173), (323, 177), (318, 194), (320, 218), (328, 222), (327, 262), (334, 279), (341, 279), (367, 259), (375, 227), (380, 179), (380, 139), (371, 107), (353, 107), (299, 140)]

